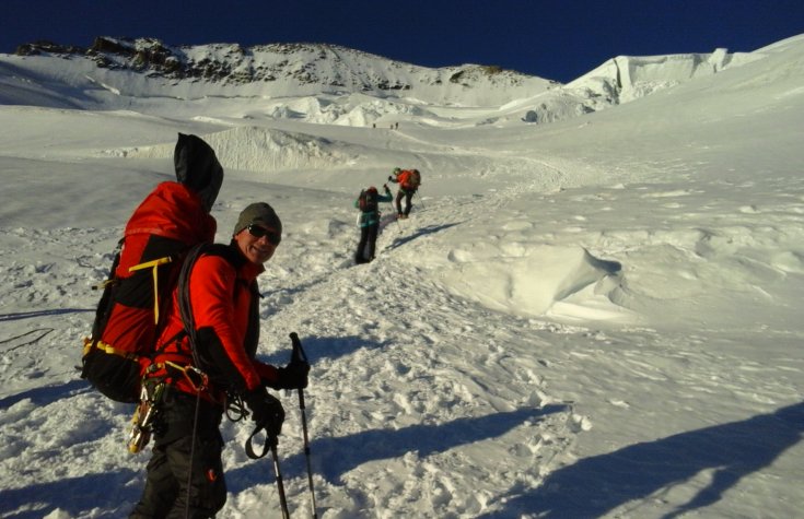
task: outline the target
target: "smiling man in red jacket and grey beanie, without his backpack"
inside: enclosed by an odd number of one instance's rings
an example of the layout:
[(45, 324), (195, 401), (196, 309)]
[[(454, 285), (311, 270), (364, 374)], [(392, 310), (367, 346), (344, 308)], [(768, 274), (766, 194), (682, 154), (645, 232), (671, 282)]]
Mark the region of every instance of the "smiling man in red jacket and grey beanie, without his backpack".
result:
[(266, 386), (307, 386), (306, 363), (277, 368), (255, 358), (257, 276), (281, 237), (273, 209), (254, 203), (240, 214), (228, 246), (208, 246), (186, 260), (160, 353), (145, 371), (145, 385), (165, 389), (145, 489), (130, 517), (213, 517), (226, 500), (219, 426), (228, 402), (245, 402), (257, 426), (276, 437), (284, 411)]

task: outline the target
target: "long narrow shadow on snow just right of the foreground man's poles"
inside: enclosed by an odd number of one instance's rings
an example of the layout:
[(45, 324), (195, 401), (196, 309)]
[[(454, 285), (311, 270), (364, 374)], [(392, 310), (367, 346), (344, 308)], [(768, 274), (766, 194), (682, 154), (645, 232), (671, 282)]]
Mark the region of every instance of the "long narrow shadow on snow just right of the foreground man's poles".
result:
[[(444, 452), (462, 445), (502, 436), (528, 420), (568, 410), (567, 405), (523, 408), (486, 416), (458, 418), (441, 425), (412, 425), (396, 430), (372, 429), (339, 438), (312, 439), (310, 448), (313, 471), (331, 484), (338, 484), (345, 473), (369, 461), (399, 458), (408, 452), (418, 452), (420, 457)], [(281, 437), (279, 447), (281, 453)], [(236, 494), (257, 482), (270, 481), (269, 463), (270, 457), (264, 462), (249, 463), (226, 472), (230, 492)], [(282, 459), (282, 476), (306, 477), (305, 463), (301, 452)]]

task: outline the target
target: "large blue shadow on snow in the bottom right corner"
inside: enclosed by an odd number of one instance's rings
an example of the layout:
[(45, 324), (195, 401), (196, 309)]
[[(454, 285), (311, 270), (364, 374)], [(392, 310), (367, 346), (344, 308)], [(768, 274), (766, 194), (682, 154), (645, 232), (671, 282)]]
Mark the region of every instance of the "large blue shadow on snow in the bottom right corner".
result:
[(528, 493), (511, 493), (486, 519), (521, 517), (595, 518), (632, 500), (683, 484), (701, 471), (712, 480), (688, 503), (664, 516), (675, 518), (719, 502), (746, 475), (768, 467), (802, 439), (804, 402), (667, 438), (585, 458), (550, 473)]

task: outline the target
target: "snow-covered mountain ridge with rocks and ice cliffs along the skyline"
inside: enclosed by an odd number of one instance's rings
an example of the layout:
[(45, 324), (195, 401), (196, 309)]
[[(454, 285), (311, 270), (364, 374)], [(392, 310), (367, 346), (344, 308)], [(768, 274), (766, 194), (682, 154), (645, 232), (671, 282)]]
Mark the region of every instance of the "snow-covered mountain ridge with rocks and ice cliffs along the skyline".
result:
[[(90, 48), (46, 42), (21, 45), (16, 56), (4, 57), (0, 66), (5, 68), (3, 75), (16, 79), (19, 89), (38, 85), (39, 103), (46, 106), (141, 111), (148, 109), (142, 97), (193, 102), (235, 95), (266, 105), (276, 118), (365, 126), (428, 117), (477, 125), (550, 122), (742, 62), (743, 55), (725, 49), (711, 55), (618, 57), (563, 86), (494, 66), (431, 69), (326, 44), (174, 47), (153, 38), (98, 37)], [(270, 103), (277, 98), (281, 105)], [(19, 99), (13, 91), (0, 91), (0, 103)], [(431, 110), (432, 105), (453, 110)], [(499, 108), (499, 114), (476, 120), (466, 108), (477, 107)]]

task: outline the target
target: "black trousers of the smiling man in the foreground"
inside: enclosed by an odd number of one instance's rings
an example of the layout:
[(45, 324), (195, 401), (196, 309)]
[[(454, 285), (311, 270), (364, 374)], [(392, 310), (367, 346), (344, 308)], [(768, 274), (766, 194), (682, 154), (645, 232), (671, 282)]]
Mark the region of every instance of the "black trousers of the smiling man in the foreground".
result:
[(145, 489), (129, 518), (206, 519), (223, 508), (221, 411), (206, 401), (200, 405), (194, 427), (196, 398), (177, 392), (165, 397)]

